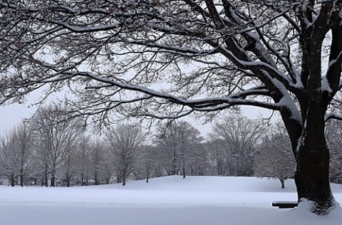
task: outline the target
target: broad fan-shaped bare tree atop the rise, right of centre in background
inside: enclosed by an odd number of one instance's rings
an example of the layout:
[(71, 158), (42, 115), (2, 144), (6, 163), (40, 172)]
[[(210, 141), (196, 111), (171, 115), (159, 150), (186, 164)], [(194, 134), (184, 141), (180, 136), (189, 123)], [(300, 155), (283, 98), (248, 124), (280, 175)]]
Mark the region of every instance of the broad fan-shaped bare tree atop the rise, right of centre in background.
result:
[(232, 164), (234, 176), (250, 176), (257, 142), (263, 130), (264, 127), (257, 121), (229, 116), (214, 124), (209, 137), (224, 149), (222, 157), (227, 157), (225, 161)]

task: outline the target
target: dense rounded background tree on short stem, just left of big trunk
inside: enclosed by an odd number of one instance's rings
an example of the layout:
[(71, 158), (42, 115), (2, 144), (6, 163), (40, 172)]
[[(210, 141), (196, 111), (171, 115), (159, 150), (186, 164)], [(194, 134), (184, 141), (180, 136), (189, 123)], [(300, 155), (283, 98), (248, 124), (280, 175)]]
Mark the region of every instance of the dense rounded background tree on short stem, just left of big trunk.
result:
[(291, 150), (291, 142), (284, 125), (278, 122), (269, 127), (259, 145), (259, 153), (254, 160), (254, 175), (274, 177), (285, 188), (285, 180), (294, 177), (296, 160)]

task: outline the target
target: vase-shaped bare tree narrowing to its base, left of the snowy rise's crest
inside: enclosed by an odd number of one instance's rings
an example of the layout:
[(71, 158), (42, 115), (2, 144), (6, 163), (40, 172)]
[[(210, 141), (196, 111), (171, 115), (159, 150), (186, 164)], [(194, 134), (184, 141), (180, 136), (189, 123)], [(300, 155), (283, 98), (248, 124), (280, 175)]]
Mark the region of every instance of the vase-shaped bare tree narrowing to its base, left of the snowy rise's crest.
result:
[(107, 132), (107, 140), (116, 164), (117, 177), (125, 186), (128, 176), (137, 169), (142, 157), (145, 134), (140, 127), (120, 124)]

